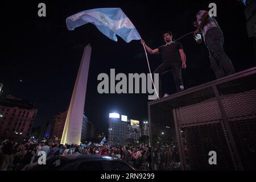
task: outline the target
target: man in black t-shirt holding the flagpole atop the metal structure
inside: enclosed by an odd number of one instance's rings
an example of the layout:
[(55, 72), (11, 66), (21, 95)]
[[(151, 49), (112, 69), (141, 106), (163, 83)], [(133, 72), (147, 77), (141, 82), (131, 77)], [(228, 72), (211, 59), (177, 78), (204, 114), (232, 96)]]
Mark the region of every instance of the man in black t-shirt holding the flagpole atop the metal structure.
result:
[(159, 73), (159, 97), (163, 97), (161, 76), (170, 70), (174, 75), (177, 92), (184, 90), (181, 68), (186, 68), (186, 56), (181, 44), (179, 42), (172, 42), (172, 33), (170, 31), (164, 32), (163, 38), (166, 45), (153, 50), (145, 44), (144, 40), (141, 40), (147, 52), (151, 54), (162, 53), (163, 55), (163, 63), (154, 71), (154, 73)]

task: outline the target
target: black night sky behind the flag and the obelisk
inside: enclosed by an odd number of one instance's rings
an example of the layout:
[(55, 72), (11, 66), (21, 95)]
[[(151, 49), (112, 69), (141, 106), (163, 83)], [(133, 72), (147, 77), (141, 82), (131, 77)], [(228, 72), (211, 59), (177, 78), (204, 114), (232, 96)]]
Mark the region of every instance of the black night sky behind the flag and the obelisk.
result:
[[(38, 3), (46, 3), (46, 17), (38, 16)], [(151, 48), (164, 44), (162, 32), (174, 38), (194, 31), (192, 13), (217, 4), (216, 20), (225, 36), (224, 49), (236, 71), (255, 66), (253, 44), (247, 38), (243, 6), (230, 1), (17, 1), (1, 6), (0, 82), (4, 93), (29, 100), (38, 108), (35, 126), (68, 108), (84, 46), (92, 46), (85, 114), (106, 132), (108, 114), (117, 112), (129, 119), (147, 120), (147, 94), (98, 94), (97, 76), (117, 73), (148, 73), (143, 47), (138, 40), (118, 42), (101, 34), (92, 24), (68, 31), (65, 19), (79, 11), (121, 7)], [(187, 55), (183, 70), (185, 89), (214, 80), (207, 47), (192, 35), (180, 40)], [(162, 63), (161, 55), (149, 55), (151, 70)], [(20, 82), (22, 80), (22, 82)], [(172, 73), (163, 77), (165, 93), (175, 93)]]

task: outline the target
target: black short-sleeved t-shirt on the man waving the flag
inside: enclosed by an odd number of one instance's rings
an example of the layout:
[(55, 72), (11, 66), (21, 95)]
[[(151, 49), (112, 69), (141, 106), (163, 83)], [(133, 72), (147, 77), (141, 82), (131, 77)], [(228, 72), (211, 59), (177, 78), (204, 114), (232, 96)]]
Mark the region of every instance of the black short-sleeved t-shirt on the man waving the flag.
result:
[(163, 62), (182, 62), (179, 49), (183, 49), (179, 42), (171, 43), (170, 45), (161, 46), (158, 48), (163, 55)]

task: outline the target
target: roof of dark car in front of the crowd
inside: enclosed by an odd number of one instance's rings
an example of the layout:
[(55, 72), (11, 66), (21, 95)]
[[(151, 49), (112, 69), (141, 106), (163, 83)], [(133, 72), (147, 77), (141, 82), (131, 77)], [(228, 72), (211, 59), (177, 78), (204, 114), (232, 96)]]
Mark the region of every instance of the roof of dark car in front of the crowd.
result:
[(135, 171), (125, 161), (104, 155), (59, 155), (24, 167), (23, 171)]

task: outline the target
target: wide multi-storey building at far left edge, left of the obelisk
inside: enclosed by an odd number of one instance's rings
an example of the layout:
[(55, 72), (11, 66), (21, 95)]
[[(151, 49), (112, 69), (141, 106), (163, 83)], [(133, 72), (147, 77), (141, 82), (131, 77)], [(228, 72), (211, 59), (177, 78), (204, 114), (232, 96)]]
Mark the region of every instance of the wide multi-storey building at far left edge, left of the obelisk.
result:
[(0, 137), (29, 138), (37, 109), (29, 101), (6, 96), (0, 98)]

